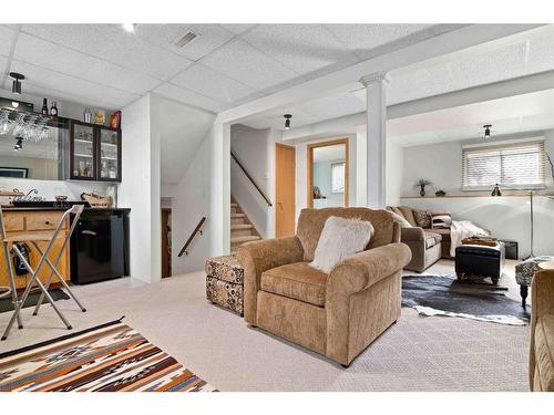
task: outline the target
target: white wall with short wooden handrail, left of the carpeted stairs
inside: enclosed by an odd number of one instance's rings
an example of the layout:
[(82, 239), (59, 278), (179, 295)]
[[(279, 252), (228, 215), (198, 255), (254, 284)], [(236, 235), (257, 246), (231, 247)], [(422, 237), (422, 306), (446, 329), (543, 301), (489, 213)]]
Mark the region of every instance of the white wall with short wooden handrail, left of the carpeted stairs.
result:
[[(230, 132), (214, 125), (206, 134), (172, 199), (172, 270), (174, 274), (204, 269), (206, 259), (230, 249)], [(202, 217), (202, 236), (177, 257)]]

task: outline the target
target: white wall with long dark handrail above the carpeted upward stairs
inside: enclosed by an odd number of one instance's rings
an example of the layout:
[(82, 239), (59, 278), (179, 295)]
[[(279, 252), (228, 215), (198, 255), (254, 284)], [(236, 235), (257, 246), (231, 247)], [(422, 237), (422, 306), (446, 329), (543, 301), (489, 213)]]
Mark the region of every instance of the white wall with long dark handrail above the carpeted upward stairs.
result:
[[(275, 200), (275, 129), (256, 129), (240, 124), (230, 127), (230, 148), (256, 184)], [(230, 194), (244, 209), (263, 238), (275, 235), (274, 207), (267, 206), (238, 165), (230, 160)]]

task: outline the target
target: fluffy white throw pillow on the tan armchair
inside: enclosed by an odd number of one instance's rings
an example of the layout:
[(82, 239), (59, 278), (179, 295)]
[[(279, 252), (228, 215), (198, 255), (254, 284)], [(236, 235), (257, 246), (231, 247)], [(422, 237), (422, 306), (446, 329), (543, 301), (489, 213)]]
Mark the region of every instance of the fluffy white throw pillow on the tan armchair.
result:
[(310, 266), (329, 273), (345, 258), (366, 249), (373, 231), (373, 226), (367, 220), (329, 217)]

